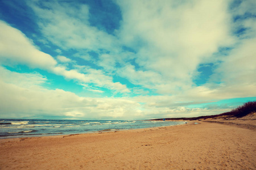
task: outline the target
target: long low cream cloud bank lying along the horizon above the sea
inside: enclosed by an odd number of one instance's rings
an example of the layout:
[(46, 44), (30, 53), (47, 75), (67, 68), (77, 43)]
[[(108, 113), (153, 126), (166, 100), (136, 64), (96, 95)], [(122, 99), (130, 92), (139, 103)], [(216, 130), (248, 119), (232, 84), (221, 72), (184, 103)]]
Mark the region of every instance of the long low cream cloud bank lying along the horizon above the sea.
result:
[[(1, 67), (0, 116), (2, 118), (145, 119), (160, 117), (193, 117), (229, 111), (222, 108), (188, 108), (200, 104), (201, 98), (189, 103), (177, 96), (80, 97), (64, 90), (43, 87), (47, 79), (38, 73), (22, 74)], [(20, 79), (22, 84), (19, 84)], [(30, 86), (27, 86), (30, 84)], [(181, 99), (181, 98), (180, 98)], [(185, 103), (187, 102), (187, 103)], [(209, 101), (208, 101), (209, 102)], [(6, 114), (8, 113), (8, 115)]]

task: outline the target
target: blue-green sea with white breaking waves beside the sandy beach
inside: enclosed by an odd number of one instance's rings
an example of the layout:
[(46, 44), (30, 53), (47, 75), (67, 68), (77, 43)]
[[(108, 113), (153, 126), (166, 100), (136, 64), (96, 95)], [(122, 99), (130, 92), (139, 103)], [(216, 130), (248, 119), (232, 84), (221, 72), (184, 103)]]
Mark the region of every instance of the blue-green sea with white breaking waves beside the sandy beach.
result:
[(142, 129), (184, 123), (174, 121), (0, 119), (0, 139)]

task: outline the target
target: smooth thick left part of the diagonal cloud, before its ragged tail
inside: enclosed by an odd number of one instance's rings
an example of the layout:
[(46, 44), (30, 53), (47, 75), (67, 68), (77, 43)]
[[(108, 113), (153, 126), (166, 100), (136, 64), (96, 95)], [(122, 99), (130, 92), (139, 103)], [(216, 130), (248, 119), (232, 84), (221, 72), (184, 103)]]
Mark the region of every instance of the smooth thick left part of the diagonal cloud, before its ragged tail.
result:
[[(18, 29), (0, 20), (0, 61), (26, 64), (32, 68), (51, 69), (57, 62), (49, 54), (40, 52)], [(11, 65), (9, 63), (9, 65)]]

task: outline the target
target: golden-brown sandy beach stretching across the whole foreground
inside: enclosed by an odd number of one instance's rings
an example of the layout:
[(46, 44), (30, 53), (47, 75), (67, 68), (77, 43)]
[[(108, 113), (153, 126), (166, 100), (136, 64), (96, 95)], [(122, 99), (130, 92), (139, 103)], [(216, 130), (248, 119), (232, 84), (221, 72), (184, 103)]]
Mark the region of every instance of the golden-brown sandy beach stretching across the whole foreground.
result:
[(0, 140), (0, 169), (256, 169), (256, 131), (198, 121)]

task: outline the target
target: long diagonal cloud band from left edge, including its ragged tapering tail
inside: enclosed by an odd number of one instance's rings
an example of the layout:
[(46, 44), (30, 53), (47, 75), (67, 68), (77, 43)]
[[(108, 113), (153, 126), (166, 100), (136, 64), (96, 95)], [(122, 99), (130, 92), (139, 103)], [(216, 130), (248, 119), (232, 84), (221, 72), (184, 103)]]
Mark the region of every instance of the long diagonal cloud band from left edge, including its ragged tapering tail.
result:
[[(89, 73), (83, 74), (75, 69), (68, 70), (60, 65), (49, 54), (36, 49), (31, 40), (18, 29), (0, 22), (0, 62), (4, 65), (24, 64), (31, 68), (47, 70), (51, 73), (64, 76), (67, 79), (75, 79), (81, 83), (94, 83), (96, 86), (109, 88), (118, 92), (129, 92), (127, 87), (119, 82), (113, 82), (113, 78), (105, 75), (101, 70), (88, 69)], [(13, 50), (15, 49), (15, 50)], [(73, 62), (71, 59), (58, 56), (61, 62)]]

